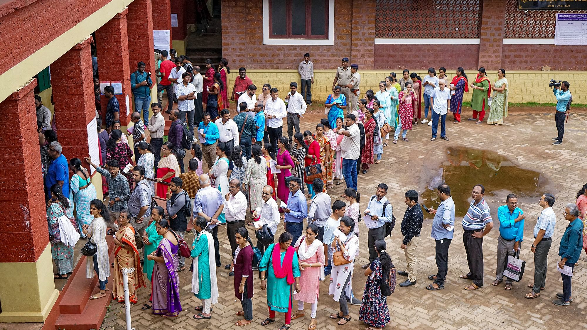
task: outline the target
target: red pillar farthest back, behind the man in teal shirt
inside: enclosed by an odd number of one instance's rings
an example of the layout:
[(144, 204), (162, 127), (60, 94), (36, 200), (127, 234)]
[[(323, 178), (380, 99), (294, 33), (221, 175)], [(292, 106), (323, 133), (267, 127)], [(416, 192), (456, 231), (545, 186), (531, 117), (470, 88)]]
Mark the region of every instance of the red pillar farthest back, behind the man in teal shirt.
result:
[[(129, 38), (129, 65), (131, 73), (137, 69), (137, 63), (145, 62), (145, 70), (151, 72), (155, 82), (155, 58), (153, 55), (153, 6), (151, 0), (134, 0), (129, 5), (126, 15)], [(100, 68), (100, 71), (102, 68)]]

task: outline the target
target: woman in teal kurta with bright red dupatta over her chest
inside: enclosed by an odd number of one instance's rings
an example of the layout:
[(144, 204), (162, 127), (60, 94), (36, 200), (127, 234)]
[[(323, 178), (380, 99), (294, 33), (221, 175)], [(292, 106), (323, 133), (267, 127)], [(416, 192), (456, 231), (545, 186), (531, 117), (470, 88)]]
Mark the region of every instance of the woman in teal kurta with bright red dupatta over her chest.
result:
[[(296, 291), (299, 292), (301, 289), (299, 287), (298, 254), (291, 247), (292, 239), (291, 234), (282, 233), (279, 236), (279, 243), (269, 245), (261, 262), (259, 262), (261, 289), (267, 291), (267, 305), (269, 307), (269, 318), (261, 322), (261, 325), (275, 322), (275, 312), (282, 312), (285, 313), (285, 327), (289, 329), (292, 314), (291, 285), (295, 281)], [(276, 265), (278, 252), (280, 264)]]

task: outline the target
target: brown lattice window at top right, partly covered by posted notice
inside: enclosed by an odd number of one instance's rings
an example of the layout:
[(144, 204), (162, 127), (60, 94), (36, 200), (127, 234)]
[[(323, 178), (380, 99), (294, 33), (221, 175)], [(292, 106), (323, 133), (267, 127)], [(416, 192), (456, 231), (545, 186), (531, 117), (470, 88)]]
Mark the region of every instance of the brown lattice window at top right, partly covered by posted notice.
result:
[[(552, 39), (556, 13), (561, 11), (518, 9), (518, 0), (508, 0), (505, 9), (504, 38)], [(587, 14), (587, 11), (564, 11), (565, 14)]]

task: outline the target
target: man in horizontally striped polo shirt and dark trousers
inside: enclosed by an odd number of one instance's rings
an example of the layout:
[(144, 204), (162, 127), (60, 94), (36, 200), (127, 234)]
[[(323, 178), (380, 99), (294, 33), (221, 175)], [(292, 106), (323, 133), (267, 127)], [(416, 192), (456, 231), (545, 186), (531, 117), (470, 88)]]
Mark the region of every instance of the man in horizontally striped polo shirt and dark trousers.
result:
[(483, 287), (483, 236), (489, 234), (493, 228), (493, 220), (489, 214), (489, 206), (483, 196), (485, 187), (481, 184), (473, 187), (471, 197), (473, 201), (469, 206), (467, 215), (463, 218), (463, 244), (467, 252), (468, 274), (460, 277), (473, 280), (465, 290), (471, 291)]

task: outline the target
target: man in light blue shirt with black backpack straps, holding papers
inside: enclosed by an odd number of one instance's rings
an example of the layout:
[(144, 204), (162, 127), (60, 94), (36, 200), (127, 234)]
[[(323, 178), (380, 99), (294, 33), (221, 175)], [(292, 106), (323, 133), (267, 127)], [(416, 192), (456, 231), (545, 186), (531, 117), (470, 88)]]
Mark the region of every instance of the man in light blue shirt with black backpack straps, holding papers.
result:
[(375, 251), (375, 241), (385, 239), (385, 223), (393, 221), (392, 204), (387, 201), (387, 184), (380, 183), (377, 186), (377, 191), (369, 200), (365, 215), (369, 215), (375, 225), (369, 228), (367, 233), (367, 246), (369, 247), (369, 263), (362, 265), (361, 268), (366, 269), (371, 262), (377, 258), (377, 251)]

